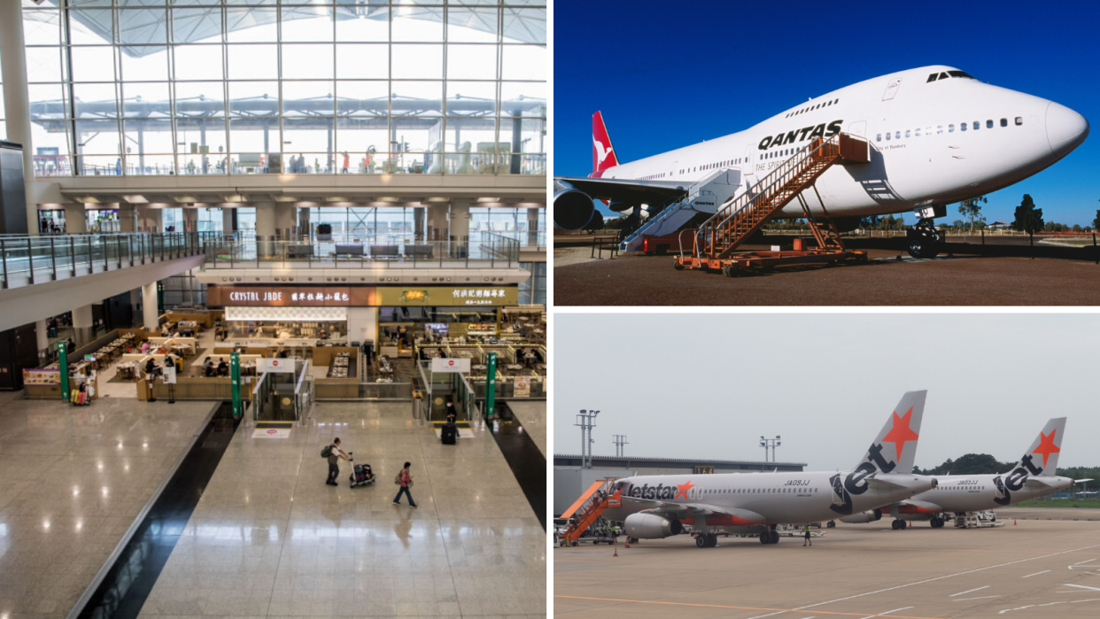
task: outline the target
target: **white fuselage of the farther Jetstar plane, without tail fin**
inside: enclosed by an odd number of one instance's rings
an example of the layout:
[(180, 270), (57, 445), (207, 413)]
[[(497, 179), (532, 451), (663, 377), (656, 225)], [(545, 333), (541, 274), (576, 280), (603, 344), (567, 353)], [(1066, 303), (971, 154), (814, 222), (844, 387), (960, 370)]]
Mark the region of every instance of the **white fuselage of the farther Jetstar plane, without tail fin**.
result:
[[(1020, 484), (1019, 489), (1005, 488), (1010, 475), (946, 475), (937, 476), (939, 486), (914, 496), (910, 502), (915, 506), (931, 504), (943, 511), (982, 511), (987, 509), (998, 509), (1007, 505), (1046, 496), (1050, 493), (1064, 490), (1074, 485), (1069, 477), (1033, 477), (1048, 484), (1043, 487), (1028, 487)], [(1001, 478), (998, 484), (998, 478)], [(1005, 496), (1008, 494), (1008, 496)], [(1000, 500), (998, 500), (1000, 499)], [(893, 512), (894, 510), (891, 510)], [(921, 520), (934, 516), (924, 510), (909, 510), (905, 508), (898, 510), (900, 517), (906, 520)]]

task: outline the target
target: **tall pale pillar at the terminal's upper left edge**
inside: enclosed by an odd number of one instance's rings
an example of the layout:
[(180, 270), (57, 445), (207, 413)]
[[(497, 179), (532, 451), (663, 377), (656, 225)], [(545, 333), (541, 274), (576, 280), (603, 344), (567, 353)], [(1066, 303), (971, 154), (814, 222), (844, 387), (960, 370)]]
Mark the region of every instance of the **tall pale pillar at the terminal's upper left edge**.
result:
[(29, 229), (6, 230), (9, 234), (38, 229), (34, 196), (34, 145), (31, 143), (31, 99), (26, 88), (26, 52), (23, 41), (23, 3), (0, 2), (0, 71), (3, 77), (4, 124), (8, 141), (23, 145), (23, 184)]

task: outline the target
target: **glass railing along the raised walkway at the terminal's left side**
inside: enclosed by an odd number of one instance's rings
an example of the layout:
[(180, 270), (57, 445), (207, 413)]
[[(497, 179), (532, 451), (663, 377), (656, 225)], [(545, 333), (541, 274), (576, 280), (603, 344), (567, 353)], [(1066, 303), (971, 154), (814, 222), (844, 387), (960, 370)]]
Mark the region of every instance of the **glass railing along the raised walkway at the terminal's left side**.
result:
[(3, 234), (0, 267), (3, 288), (18, 288), (117, 270), (130, 266), (217, 253), (219, 232), (121, 234)]

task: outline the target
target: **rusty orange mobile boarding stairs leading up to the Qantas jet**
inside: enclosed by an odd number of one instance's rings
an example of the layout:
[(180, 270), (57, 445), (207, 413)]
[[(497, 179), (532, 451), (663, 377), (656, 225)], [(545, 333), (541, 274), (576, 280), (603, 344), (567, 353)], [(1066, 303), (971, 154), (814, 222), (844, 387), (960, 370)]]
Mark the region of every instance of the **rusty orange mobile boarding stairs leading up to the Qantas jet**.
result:
[[(813, 214), (802, 192), (834, 165), (861, 165), (870, 162), (870, 144), (862, 137), (837, 133), (827, 140), (815, 139), (789, 159), (780, 163), (756, 186), (739, 196), (730, 195), (713, 217), (694, 230), (680, 231), (680, 255), (675, 268), (721, 272), (734, 277), (739, 269), (767, 270), (776, 266), (844, 262), (867, 262), (867, 253), (848, 250), (840, 233), (825, 211)], [(705, 179), (704, 179), (705, 181)], [(712, 184), (713, 187), (713, 184)], [(769, 219), (792, 200), (799, 200), (810, 230), (817, 242), (813, 250), (791, 252), (737, 252)], [(672, 217), (672, 215), (670, 215)], [(640, 229), (639, 229), (640, 231)]]

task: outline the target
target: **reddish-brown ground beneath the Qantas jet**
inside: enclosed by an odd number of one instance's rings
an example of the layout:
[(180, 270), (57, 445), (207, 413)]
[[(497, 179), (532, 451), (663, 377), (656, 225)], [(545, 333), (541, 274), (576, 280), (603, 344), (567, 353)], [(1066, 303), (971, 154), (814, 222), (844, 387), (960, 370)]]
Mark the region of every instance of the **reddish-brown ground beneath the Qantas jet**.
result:
[[(762, 250), (763, 246), (747, 246)], [(559, 306), (1075, 306), (1100, 305), (1100, 266), (1084, 261), (955, 257), (901, 261), (869, 250), (870, 264), (776, 268), (736, 278), (675, 270), (671, 256), (591, 259), (554, 250)], [(575, 254), (575, 256), (573, 255)], [(582, 259), (583, 258), (583, 259)], [(572, 264), (571, 264), (572, 263)]]

